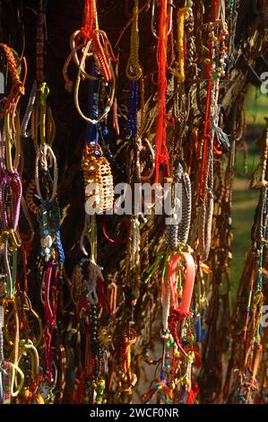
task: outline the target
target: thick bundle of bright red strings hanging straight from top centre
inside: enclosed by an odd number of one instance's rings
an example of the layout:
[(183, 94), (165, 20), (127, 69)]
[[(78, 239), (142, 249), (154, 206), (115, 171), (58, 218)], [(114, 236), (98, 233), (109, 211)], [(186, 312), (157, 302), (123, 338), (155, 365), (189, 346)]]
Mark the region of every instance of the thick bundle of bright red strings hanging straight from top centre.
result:
[(168, 48), (168, 1), (160, 0), (160, 23), (158, 40), (158, 103), (155, 138), (155, 183), (160, 176), (160, 164), (164, 164), (169, 175), (169, 152), (166, 145), (166, 91), (167, 91), (167, 48)]

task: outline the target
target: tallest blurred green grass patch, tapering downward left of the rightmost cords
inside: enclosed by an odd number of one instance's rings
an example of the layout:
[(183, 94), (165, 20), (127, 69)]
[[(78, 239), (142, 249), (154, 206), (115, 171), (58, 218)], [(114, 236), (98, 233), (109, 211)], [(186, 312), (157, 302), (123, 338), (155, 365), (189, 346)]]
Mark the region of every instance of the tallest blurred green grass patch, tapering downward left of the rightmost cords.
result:
[(268, 96), (257, 92), (254, 86), (249, 86), (245, 105), (246, 142), (248, 145), (247, 171), (245, 173), (243, 151), (238, 150), (232, 198), (233, 242), (231, 249), (233, 259), (230, 266), (232, 305), (236, 301), (246, 251), (251, 244), (250, 231), (259, 198), (258, 190), (249, 189), (249, 179), (260, 160), (260, 144), (257, 141), (262, 136), (265, 127), (264, 117), (268, 116)]

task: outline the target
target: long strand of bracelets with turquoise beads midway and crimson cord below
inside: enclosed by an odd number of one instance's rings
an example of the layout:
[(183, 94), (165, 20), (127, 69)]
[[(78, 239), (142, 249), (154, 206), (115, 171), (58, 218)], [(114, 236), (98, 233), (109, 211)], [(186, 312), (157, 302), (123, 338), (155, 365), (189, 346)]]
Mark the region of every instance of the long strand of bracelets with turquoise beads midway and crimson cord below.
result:
[[(52, 149), (56, 129), (52, 111), (48, 105), (49, 88), (45, 82), (45, 31), (46, 14), (42, 0), (39, 0), (36, 44), (36, 80), (32, 84), (30, 99), (22, 119), (22, 136), (31, 137), (36, 150), (35, 179), (28, 186), (26, 203), (30, 211), (37, 214), (40, 235), (40, 257), (44, 259), (44, 312), (46, 326), (44, 329), (44, 359), (41, 360), (44, 374), (39, 383), (31, 391), (32, 400), (53, 400), (53, 385), (56, 382), (56, 373), (53, 369), (52, 355), (53, 335), (56, 327), (57, 309), (57, 277), (58, 266), (65, 261), (60, 235), (60, 211), (56, 198), (57, 192), (57, 163)], [(28, 129), (30, 124), (30, 128)], [(50, 169), (53, 168), (53, 178)], [(35, 191), (37, 194), (35, 195)], [(35, 199), (37, 198), (38, 201)], [(53, 304), (50, 304), (52, 302)], [(46, 372), (46, 371), (47, 372)], [(54, 373), (54, 374), (53, 374)], [(48, 384), (48, 385), (47, 385)], [(35, 392), (39, 388), (36, 396)], [(48, 391), (48, 396), (46, 395)], [(37, 399), (34, 399), (34, 397)]]

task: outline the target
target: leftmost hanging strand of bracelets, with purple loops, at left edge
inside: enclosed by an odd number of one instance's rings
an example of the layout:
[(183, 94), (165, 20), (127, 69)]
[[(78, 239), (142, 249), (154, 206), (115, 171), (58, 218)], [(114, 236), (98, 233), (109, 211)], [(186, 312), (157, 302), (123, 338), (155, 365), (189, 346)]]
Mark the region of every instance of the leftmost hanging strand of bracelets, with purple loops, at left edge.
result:
[[(4, 404), (10, 403), (22, 390), (24, 374), (18, 363), (19, 316), (17, 304), (17, 257), (22, 246), (22, 239), (18, 230), (19, 216), (22, 202), (22, 180), (19, 174), (21, 165), (20, 119), (18, 103), (24, 93), (26, 78), (26, 61), (24, 62), (24, 79), (20, 78), (20, 60), (15, 51), (5, 44), (1, 44), (6, 57), (8, 74), (12, 88), (5, 98), (1, 110), (1, 120), (4, 120), (2, 135), (1, 161), (1, 255), (4, 259), (4, 295), (1, 298), (1, 391)], [(2, 122), (1, 122), (2, 123)], [(13, 154), (14, 151), (14, 154)], [(13, 355), (4, 360), (4, 318), (9, 317), (8, 303), (13, 304), (15, 320), (14, 339), (11, 344)], [(5, 318), (5, 320), (7, 320)], [(15, 381), (16, 380), (16, 381)], [(16, 388), (16, 390), (15, 390)]]

